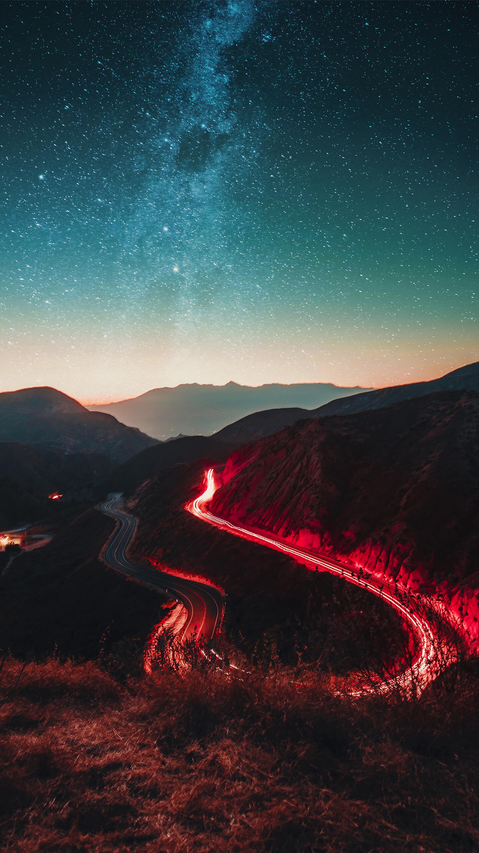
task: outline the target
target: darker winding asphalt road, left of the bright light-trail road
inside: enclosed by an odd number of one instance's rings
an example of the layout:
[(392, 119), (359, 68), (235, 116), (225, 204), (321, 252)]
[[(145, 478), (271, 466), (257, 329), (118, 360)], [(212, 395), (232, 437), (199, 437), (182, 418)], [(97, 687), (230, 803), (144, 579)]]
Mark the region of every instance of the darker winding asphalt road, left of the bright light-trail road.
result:
[(208, 583), (176, 577), (149, 566), (134, 564), (127, 556), (128, 543), (134, 534), (136, 519), (121, 508), (122, 495), (112, 495), (108, 501), (100, 504), (100, 510), (120, 522), (120, 526), (105, 550), (105, 560), (114, 569), (124, 572), (137, 580), (151, 583), (165, 590), (174, 598), (182, 601), (187, 612), (185, 624), (182, 624), (179, 640), (185, 642), (196, 636), (205, 641), (214, 638), (220, 628), (221, 616), (225, 604), (219, 589)]

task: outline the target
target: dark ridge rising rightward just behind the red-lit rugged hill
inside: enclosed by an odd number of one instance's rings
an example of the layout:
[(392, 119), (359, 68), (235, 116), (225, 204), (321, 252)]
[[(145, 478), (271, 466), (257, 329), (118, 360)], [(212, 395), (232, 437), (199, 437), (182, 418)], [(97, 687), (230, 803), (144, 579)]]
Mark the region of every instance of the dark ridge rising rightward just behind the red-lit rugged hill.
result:
[(349, 397), (340, 397), (317, 409), (266, 409), (241, 418), (229, 424), (214, 436), (225, 444), (248, 444), (257, 438), (271, 435), (288, 427), (302, 418), (319, 418), (326, 415), (352, 415), (369, 409), (385, 409), (393, 403), (424, 397), (437, 391), (477, 391), (479, 392), (479, 362), (466, 364), (453, 370), (440, 379), (429, 382), (412, 382), (410, 385), (396, 385), (390, 388), (378, 388), (376, 391), (356, 392)]

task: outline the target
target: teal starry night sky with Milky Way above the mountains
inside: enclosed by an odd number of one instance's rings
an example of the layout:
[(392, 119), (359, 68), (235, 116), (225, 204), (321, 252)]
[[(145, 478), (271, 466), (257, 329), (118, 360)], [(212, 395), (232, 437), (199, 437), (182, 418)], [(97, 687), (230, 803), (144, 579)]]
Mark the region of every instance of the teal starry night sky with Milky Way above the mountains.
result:
[(476, 3), (2, 12), (1, 391), (479, 360)]

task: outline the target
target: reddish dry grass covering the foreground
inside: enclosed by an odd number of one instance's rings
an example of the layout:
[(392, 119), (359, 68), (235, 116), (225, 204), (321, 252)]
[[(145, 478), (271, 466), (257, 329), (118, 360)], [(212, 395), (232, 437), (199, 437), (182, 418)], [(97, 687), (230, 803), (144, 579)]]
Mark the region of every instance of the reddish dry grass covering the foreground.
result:
[(472, 664), (453, 692), (355, 704), (282, 670), (22, 666), (0, 673), (3, 850), (479, 847)]

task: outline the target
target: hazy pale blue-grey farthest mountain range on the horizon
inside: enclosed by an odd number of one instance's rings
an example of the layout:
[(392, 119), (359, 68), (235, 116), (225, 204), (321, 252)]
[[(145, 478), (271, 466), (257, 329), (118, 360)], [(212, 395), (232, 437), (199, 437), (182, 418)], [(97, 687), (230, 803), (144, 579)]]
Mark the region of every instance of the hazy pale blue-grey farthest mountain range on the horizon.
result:
[[(367, 389), (343, 388), (322, 382), (299, 385), (179, 385), (154, 388), (140, 397), (88, 406), (91, 412), (114, 415), (130, 427), (164, 441), (184, 435), (212, 435), (222, 427), (259, 409), (300, 407), (313, 409), (338, 397), (350, 397)], [(278, 427), (279, 428), (279, 427)]]

